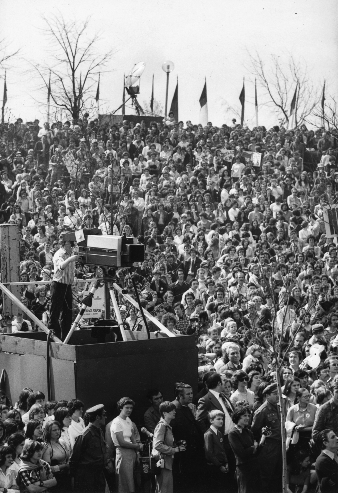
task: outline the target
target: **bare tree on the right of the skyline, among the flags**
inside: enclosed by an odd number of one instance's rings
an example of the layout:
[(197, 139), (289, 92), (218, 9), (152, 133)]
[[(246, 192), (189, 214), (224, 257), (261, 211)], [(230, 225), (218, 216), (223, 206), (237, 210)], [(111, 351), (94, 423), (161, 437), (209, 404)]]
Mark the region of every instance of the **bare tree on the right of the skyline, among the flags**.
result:
[(287, 123), (291, 101), (298, 87), (294, 126), (304, 123), (320, 101), (320, 90), (312, 81), (306, 63), (296, 62), (292, 55), (286, 62), (278, 55), (271, 55), (268, 61), (263, 60), (258, 52), (248, 52), (248, 55), (250, 72), (264, 90), (264, 103)]

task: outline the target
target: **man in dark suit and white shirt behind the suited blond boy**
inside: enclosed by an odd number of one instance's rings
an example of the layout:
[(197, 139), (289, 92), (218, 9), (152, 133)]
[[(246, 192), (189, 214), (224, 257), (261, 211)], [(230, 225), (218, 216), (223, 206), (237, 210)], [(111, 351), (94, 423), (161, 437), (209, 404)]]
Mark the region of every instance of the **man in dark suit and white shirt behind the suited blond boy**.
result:
[(224, 384), (218, 373), (210, 375), (206, 380), (206, 386), (209, 389), (208, 393), (201, 397), (197, 408), (196, 420), (201, 424), (202, 431), (205, 433), (209, 428), (208, 412), (217, 409), (224, 413), (224, 423), (219, 431), (222, 433), (224, 440), (224, 450), (229, 463), (229, 480), (235, 477), (236, 459), (229, 443), (229, 432), (234, 428), (232, 415), (234, 406), (225, 396)]

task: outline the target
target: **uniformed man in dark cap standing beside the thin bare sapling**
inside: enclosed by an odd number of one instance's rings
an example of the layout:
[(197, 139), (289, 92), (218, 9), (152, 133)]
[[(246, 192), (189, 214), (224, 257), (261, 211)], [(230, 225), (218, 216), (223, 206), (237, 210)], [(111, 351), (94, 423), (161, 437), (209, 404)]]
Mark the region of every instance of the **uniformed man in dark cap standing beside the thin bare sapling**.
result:
[[(266, 438), (258, 456), (262, 492), (278, 491), (282, 474), (282, 428), (278, 403), (277, 384), (270, 384), (263, 391), (266, 401), (254, 414), (251, 431), (255, 439), (261, 439), (262, 428), (268, 427), (271, 435)], [(284, 432), (284, 431), (283, 431)]]

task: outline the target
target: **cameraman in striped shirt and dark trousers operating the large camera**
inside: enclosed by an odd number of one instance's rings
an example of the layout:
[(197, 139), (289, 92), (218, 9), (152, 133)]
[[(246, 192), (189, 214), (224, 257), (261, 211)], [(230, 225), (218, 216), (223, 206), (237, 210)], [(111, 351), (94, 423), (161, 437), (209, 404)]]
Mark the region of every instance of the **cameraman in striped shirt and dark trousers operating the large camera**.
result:
[[(63, 232), (59, 237), (60, 248), (53, 256), (54, 276), (50, 288), (51, 305), (48, 328), (62, 341), (66, 338), (72, 318), (73, 294), (71, 286), (74, 280), (74, 262), (81, 260), (81, 255), (72, 255), (74, 242), (66, 241)], [(61, 318), (60, 318), (61, 315)], [(60, 323), (59, 323), (60, 318)]]

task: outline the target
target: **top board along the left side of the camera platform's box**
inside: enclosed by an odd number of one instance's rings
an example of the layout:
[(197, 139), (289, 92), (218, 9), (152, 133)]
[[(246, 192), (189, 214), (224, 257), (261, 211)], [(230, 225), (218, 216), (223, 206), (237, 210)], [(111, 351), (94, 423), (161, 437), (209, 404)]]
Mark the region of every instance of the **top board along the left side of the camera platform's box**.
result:
[[(10, 352), (14, 354), (35, 354), (46, 356), (47, 343), (23, 337), (13, 337), (10, 334), (0, 334), (0, 352)], [(75, 360), (75, 347), (71, 345), (51, 343), (50, 355), (59, 359)]]

